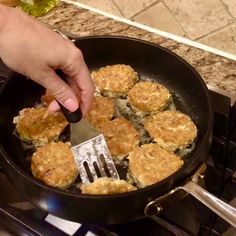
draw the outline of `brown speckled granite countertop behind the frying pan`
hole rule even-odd
[[[147,40],[165,47],[188,61],[211,86],[236,95],[236,61],[176,42],[155,33],[115,21],[103,15],[61,2],[38,20],[74,37],[119,35]]]

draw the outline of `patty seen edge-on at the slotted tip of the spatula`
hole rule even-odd
[[[108,177],[98,178],[91,184],[82,184],[80,188],[82,193],[86,194],[114,194],[137,189],[125,180],[114,180]]]

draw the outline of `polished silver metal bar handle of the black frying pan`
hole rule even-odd
[[[191,194],[228,223],[236,227],[236,209],[234,207],[215,197],[193,181],[187,182],[180,188]]]

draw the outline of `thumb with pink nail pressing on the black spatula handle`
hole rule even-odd
[[[48,71],[46,78],[44,77],[40,83],[50,91],[57,102],[62,104],[69,111],[73,112],[78,109],[79,102],[71,87],[64,82],[54,70]],[[49,110],[58,110],[57,104],[53,103],[52,106],[49,106]]]

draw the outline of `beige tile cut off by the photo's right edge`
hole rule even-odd
[[[236,55],[236,23],[200,39],[199,42]]]

